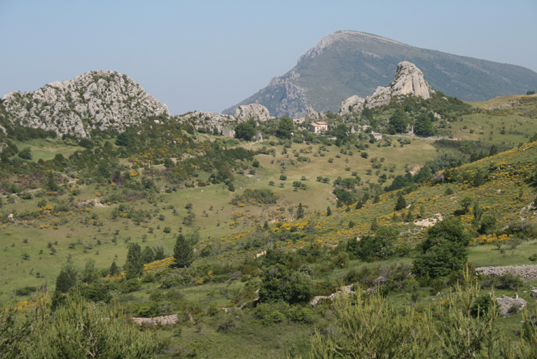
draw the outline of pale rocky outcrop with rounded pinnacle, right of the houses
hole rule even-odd
[[[370,109],[384,106],[396,96],[411,95],[427,100],[432,93],[435,90],[425,80],[423,72],[411,62],[403,61],[397,65],[396,77],[388,87],[377,87],[375,93],[365,99],[354,95],[343,100],[339,114],[360,113],[364,106]]]

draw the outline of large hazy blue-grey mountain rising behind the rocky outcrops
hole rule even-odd
[[[387,86],[402,61],[419,67],[435,90],[461,100],[537,89],[537,73],[524,67],[417,48],[365,32],[338,31],[300,56],[289,72],[223,113],[235,114],[239,105],[251,103],[263,104],[274,116],[303,117],[307,107],[335,112],[342,100],[366,97],[377,86]]]

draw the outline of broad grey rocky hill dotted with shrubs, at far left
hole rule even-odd
[[[95,128],[123,130],[148,116],[169,116],[167,106],[129,76],[103,70],[48,83],[33,93],[8,93],[1,102],[13,124],[76,137],[88,137]]]

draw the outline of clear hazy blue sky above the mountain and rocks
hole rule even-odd
[[[0,96],[106,69],[172,114],[218,112],[337,30],[537,72],[536,19],[536,0],[0,0]]]

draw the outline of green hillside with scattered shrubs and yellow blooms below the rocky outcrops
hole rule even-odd
[[[127,316],[172,316],[174,325],[141,328],[159,358],[307,358],[314,328],[323,339],[342,333],[337,307],[309,299],[342,285],[382,285],[398,312],[409,305],[416,318],[438,319],[463,277],[459,267],[440,278],[413,272],[435,222],[466,233],[475,266],[537,258],[536,105],[536,95],[398,96],[365,113],[328,114],[327,135],[301,123],[287,138],[288,118],[247,121],[260,142],[214,134],[202,113],[142,118],[119,135],[80,141],[10,138],[0,161],[0,299],[38,312],[44,287],[44,302],[64,309],[106,309],[117,299]],[[414,130],[425,121],[433,135],[398,132],[400,116]],[[362,126],[382,139],[350,130]],[[356,238],[382,235],[393,243],[368,257],[355,251]],[[181,237],[193,262],[169,268]],[[137,246],[145,265],[130,278]],[[70,284],[60,280],[71,275]],[[287,297],[267,285],[291,279],[302,287]],[[529,285],[537,280],[480,280],[480,296],[494,285],[497,297],[516,291],[535,308]],[[81,303],[78,292],[97,304],[67,302]],[[495,328],[518,344],[521,320],[515,308]],[[51,337],[62,330],[33,328]]]

